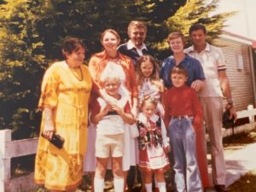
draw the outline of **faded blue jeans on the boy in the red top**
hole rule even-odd
[[[176,192],[202,192],[195,151],[193,118],[171,119],[168,134],[172,147]]]

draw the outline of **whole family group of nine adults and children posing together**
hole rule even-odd
[[[103,192],[109,168],[114,191],[122,192],[137,166],[142,190],[151,192],[154,183],[166,192],[164,173],[171,168],[175,191],[203,192],[210,186],[206,127],[212,181],[224,192],[223,94],[230,118],[236,111],[221,49],[206,42],[205,26],[194,24],[188,49],[181,32],[168,35],[172,55],[159,67],[144,44],[147,26],[132,20],[127,32],[130,40],[121,45],[118,32],[102,32],[103,50],[91,56],[88,67],[84,44],[68,38],[65,60],[47,69],[38,104],[44,137],[38,141],[35,182],[73,192],[84,172],[92,172],[92,190]],[[55,134],[63,137],[62,148],[52,144]]]

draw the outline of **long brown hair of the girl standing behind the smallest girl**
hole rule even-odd
[[[152,63],[153,65],[153,71],[152,74],[150,75],[149,79],[150,80],[159,80],[159,66],[157,61],[154,59],[153,56],[151,55],[142,55],[138,60],[137,60],[137,84],[141,85],[143,84],[143,73],[142,73],[142,69],[141,66],[143,64],[143,62],[149,61]]]

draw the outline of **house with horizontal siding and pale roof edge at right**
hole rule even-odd
[[[218,43],[224,51],[226,73],[230,79],[236,110],[246,109],[249,104],[255,107],[256,48],[253,46],[255,41],[232,32],[224,32]]]

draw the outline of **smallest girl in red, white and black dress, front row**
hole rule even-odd
[[[138,114],[138,166],[143,173],[143,182],[147,192],[152,192],[152,175],[160,192],[166,192],[164,172],[170,168],[167,154],[169,139],[162,118],[155,113],[157,102],[153,96],[141,102],[142,113]]]

